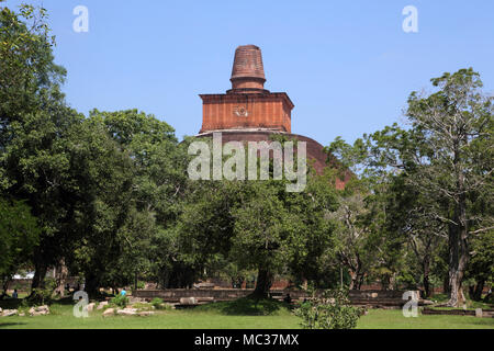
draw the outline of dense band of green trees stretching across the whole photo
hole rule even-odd
[[[91,295],[138,281],[190,287],[222,278],[256,281],[258,298],[282,276],[323,288],[379,281],[426,296],[442,285],[458,306],[465,286],[474,299],[492,286],[493,99],[472,69],[413,92],[407,125],[352,145],[337,138],[326,150],[338,169],[310,169],[306,189],[289,193],[287,180],[190,180],[192,138],[179,141],[154,115],[78,113],[61,93],[54,45],[44,9],[1,7],[4,290],[13,274],[34,270],[33,295],[45,292],[53,268],[79,276]],[[348,174],[337,190],[336,178]],[[64,274],[54,286],[64,293]],[[301,313],[325,315],[325,328],[351,327],[335,298]]]

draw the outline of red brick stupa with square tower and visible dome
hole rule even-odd
[[[307,159],[313,159],[315,170],[322,173],[327,167],[323,146],[308,137],[291,134],[294,104],[289,95],[265,89],[266,76],[259,47],[237,47],[231,81],[232,89],[226,93],[200,94],[203,120],[198,136],[210,137],[221,132],[223,143],[228,143],[270,141],[272,134],[287,135],[306,143]],[[336,186],[341,189],[347,180],[348,177],[337,179]]]

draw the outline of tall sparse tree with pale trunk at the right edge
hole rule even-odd
[[[450,306],[462,303],[462,281],[473,236],[492,230],[492,213],[471,211],[476,193],[493,197],[493,98],[485,97],[479,73],[461,69],[431,80],[438,91],[412,93],[407,116],[419,132],[426,154],[415,162],[414,184],[425,196],[448,201],[436,213],[448,226]]]

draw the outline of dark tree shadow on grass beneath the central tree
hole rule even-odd
[[[288,307],[284,303],[272,298],[255,299],[244,297],[235,301],[198,306],[194,310],[217,312],[227,316],[269,316],[276,315],[281,310],[288,310]]]

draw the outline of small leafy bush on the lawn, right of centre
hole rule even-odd
[[[295,309],[295,315],[302,318],[305,329],[353,329],[361,309],[350,306],[348,292],[327,290],[321,297],[313,293],[311,301]]]

